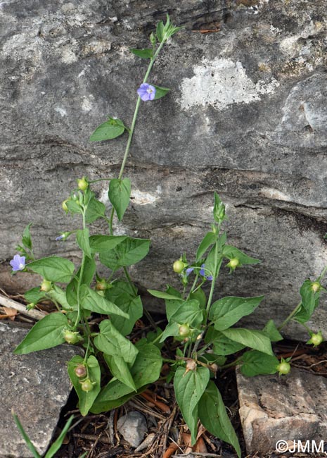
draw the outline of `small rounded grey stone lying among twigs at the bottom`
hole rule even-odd
[[[136,410],[121,416],[117,421],[117,429],[132,447],[139,447],[148,431],[145,416]]]

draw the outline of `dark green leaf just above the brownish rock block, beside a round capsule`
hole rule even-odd
[[[278,372],[276,369],[278,364],[279,361],[275,356],[250,350],[242,354],[241,373],[247,377],[264,376]]]

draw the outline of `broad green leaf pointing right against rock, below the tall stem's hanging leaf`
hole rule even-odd
[[[132,266],[143,259],[150,248],[150,240],[127,237],[115,250],[100,253],[100,261],[112,271],[123,266]]]

